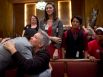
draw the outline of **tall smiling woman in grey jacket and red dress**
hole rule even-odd
[[[40,28],[48,33],[52,40],[48,51],[51,58],[62,58],[61,39],[63,35],[63,23],[56,17],[56,9],[53,3],[47,3],[44,19],[40,21]]]

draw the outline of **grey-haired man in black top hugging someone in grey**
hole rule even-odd
[[[50,56],[46,51],[49,41],[49,37],[44,31],[39,31],[31,37],[29,42],[35,52],[35,55],[31,59],[23,57],[12,41],[7,41],[3,45],[10,52],[13,61],[20,67],[21,74],[35,75],[31,77],[50,77],[50,70],[48,70]],[[17,77],[23,76],[19,75]]]

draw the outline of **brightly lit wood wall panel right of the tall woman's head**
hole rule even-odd
[[[70,7],[70,1],[63,1],[63,2],[59,2],[59,5],[58,5],[58,17],[62,20],[63,24],[64,25],[70,25],[70,12],[71,10],[69,9]]]

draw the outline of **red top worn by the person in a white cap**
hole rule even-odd
[[[97,40],[93,40],[88,43],[88,53],[96,59],[100,59],[100,51],[102,50],[103,48],[100,47]]]

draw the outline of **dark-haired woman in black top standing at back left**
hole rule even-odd
[[[26,27],[24,27],[22,36],[26,37],[27,39],[30,39],[30,37],[32,37],[39,28],[39,21],[38,18],[34,15],[31,16],[31,23],[29,25],[26,25]]]

